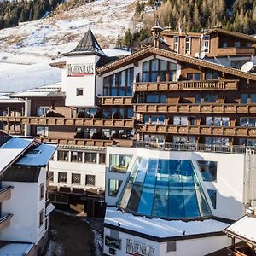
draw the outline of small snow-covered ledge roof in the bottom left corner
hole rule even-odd
[[[9,243],[0,248],[0,256],[23,256],[29,253],[34,247],[32,243]]]

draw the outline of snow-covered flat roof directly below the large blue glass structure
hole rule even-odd
[[[215,219],[194,221],[165,220],[146,218],[122,213],[116,207],[107,207],[104,224],[110,224],[124,230],[141,233],[158,238],[191,236],[223,231],[229,224]]]

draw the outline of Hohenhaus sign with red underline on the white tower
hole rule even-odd
[[[94,74],[94,63],[85,64],[67,64],[68,77],[84,77],[85,75]]]

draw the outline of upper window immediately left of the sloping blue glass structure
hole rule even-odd
[[[110,172],[126,172],[131,158],[131,155],[110,154]]]

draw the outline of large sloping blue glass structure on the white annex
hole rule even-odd
[[[150,218],[212,216],[191,160],[137,157],[118,207]]]

